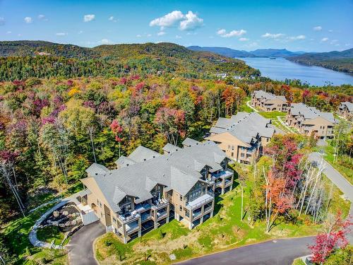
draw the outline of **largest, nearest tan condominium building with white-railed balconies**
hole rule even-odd
[[[90,165],[78,197],[87,208],[83,220],[100,220],[126,243],[173,218],[190,229],[212,218],[215,194],[232,189],[230,159],[212,141],[183,145],[168,143],[163,155],[139,146],[115,170]]]

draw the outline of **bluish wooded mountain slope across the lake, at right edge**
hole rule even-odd
[[[342,52],[310,52],[287,57],[287,59],[299,64],[316,65],[335,71],[353,73],[353,49],[346,49]]]

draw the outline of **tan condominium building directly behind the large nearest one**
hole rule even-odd
[[[229,119],[219,118],[206,139],[217,143],[229,158],[251,164],[261,155],[273,134],[283,134],[256,112],[238,112]]]

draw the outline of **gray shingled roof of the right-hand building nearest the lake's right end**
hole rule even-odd
[[[316,107],[309,107],[304,103],[292,103],[290,105],[290,113],[293,116],[304,117],[304,120],[307,119],[315,119],[317,117],[323,117],[327,119],[329,122],[335,123],[335,117],[330,112],[321,112],[320,110],[316,109]]]

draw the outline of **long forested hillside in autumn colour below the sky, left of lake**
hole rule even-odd
[[[51,42],[0,42],[0,80],[29,77],[73,78],[123,76],[125,73],[175,73],[187,78],[210,78],[216,73],[259,76],[244,61],[210,52],[193,52],[172,43],[101,45],[83,48]]]

